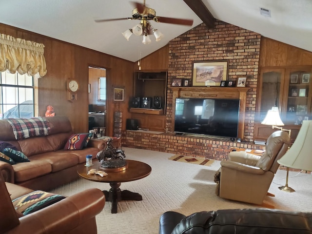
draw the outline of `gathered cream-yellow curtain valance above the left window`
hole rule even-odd
[[[34,41],[0,34],[0,72],[29,76],[39,73],[43,77],[47,73],[43,48],[43,44]]]

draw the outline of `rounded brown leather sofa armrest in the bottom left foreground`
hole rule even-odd
[[[37,212],[20,217],[20,225],[8,234],[68,233],[104,208],[105,196],[99,189],[88,189],[69,196]]]

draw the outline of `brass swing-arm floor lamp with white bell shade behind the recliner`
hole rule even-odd
[[[272,109],[268,111],[266,117],[261,122],[261,124],[271,125],[273,129],[277,128],[277,129],[280,129],[281,131],[288,131],[289,136],[291,136],[291,132],[292,132],[291,129],[283,129],[283,127],[279,127],[279,126],[284,126],[284,123],[281,120],[281,117],[279,116],[278,107],[276,107],[276,106],[273,106]],[[292,193],[295,191],[291,187],[288,186],[288,174],[289,174],[289,168],[287,167],[286,184],[285,184],[285,186],[281,186],[278,188],[282,191]]]

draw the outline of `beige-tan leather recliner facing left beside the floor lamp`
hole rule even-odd
[[[287,132],[276,131],[267,140],[266,151],[256,156],[244,151],[230,152],[229,160],[221,161],[219,196],[226,199],[262,204],[281,158],[291,139]]]

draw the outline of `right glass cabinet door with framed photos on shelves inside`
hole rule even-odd
[[[302,120],[311,119],[311,68],[289,69],[287,71],[288,90],[285,121],[289,124],[302,124]]]

